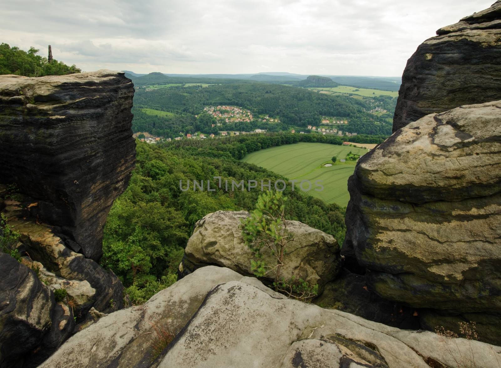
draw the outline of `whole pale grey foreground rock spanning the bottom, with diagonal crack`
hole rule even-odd
[[[153,326],[175,335],[158,356]],[[166,328],[166,327],[164,327]],[[227,268],[197,269],[140,307],[101,318],[41,367],[498,367],[499,348],[406,331],[285,298]]]

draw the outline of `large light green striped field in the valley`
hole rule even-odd
[[[340,160],[345,159],[350,151],[359,155],[368,152],[364,148],[301,142],[252,152],[243,157],[242,161],[275,171],[291,180],[310,180],[312,189],[306,193],[326,203],[337,203],[345,207],[350,200],[348,177],[353,173],[356,161]],[[337,157],[336,163],[324,166],[332,163],[332,156]],[[315,186],[316,180],[322,180],[320,184],[324,186],[323,191],[315,190],[319,189]],[[305,183],[304,187],[308,185]],[[300,190],[299,182],[296,183],[296,188]]]

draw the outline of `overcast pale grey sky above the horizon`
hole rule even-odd
[[[494,0],[12,0],[0,42],[84,71],[401,76],[417,46]]]

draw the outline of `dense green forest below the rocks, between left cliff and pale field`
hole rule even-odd
[[[302,135],[313,139],[316,135]],[[308,137],[308,138],[307,138]],[[319,139],[325,136],[318,135]],[[325,142],[341,144],[339,138]],[[260,190],[181,191],[187,180],[213,176],[240,181],[284,179],[256,165],[238,161],[246,152],[295,143],[296,134],[266,134],[207,141],[181,140],[148,145],[138,142],[136,169],[129,187],[110,211],[101,263],[123,281],[131,301],[142,303],[176,280],[176,272],[193,225],[218,210],[253,210]],[[217,180],[212,181],[212,183]],[[284,195],[287,218],[344,239],[344,208],[292,191]]]

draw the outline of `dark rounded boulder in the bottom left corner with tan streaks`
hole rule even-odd
[[[36,366],[74,326],[36,273],[0,252],[0,366]]]

